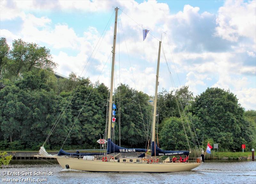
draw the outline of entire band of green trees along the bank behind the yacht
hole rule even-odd
[[[0,90],[0,149],[38,150],[55,122],[58,125],[46,148],[59,149],[73,125],[64,149],[99,146],[96,141],[105,132],[108,88],[75,73],[57,79],[52,73],[55,67],[49,49],[21,39],[14,40],[10,49],[6,39],[0,39],[0,84],[5,85]],[[119,142],[120,128],[122,146],[147,147],[152,123],[149,96],[121,84],[113,97],[117,106],[113,141]],[[256,147],[256,111],[244,112],[230,91],[208,88],[194,98],[188,86],[175,92],[163,89],[157,102],[156,132],[163,149],[189,149],[182,122],[192,147],[194,128],[200,143],[204,135],[204,146],[219,143],[222,151],[240,151],[241,144],[246,144],[247,151]],[[65,113],[59,117],[62,110]]]

